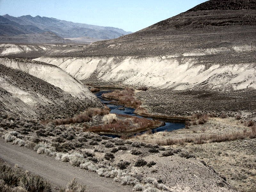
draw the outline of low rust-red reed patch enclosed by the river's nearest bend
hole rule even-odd
[[[107,132],[107,133],[133,133],[145,131],[160,126],[162,123],[157,120],[149,120],[146,118],[130,117],[125,120],[117,120],[109,124],[101,124],[92,126],[86,131],[90,132]]]

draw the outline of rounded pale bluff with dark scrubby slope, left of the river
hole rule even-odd
[[[86,86],[54,65],[0,58],[0,69],[0,112],[52,118],[103,107]]]

